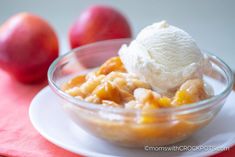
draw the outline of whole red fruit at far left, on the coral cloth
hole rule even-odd
[[[20,82],[44,80],[58,52],[54,30],[37,15],[19,13],[0,27],[0,67]]]

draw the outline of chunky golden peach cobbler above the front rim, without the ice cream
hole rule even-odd
[[[97,70],[71,79],[62,89],[91,103],[143,110],[187,105],[209,97],[201,79],[186,81],[173,97],[160,95],[147,82],[127,73],[119,57],[110,58]]]

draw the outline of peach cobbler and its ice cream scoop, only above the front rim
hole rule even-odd
[[[143,29],[119,56],[63,85],[71,96],[128,109],[192,104],[210,96],[202,79],[206,59],[183,30],[165,21]]]

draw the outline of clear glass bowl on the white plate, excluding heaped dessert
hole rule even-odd
[[[86,132],[126,147],[163,146],[186,139],[205,127],[220,111],[232,90],[233,75],[218,57],[205,53],[212,64],[203,79],[214,90],[214,96],[181,107],[142,112],[101,106],[76,99],[61,90],[61,85],[81,73],[100,66],[117,55],[130,39],[107,40],[82,46],[56,59],[49,68],[48,80],[66,114]],[[140,122],[141,116],[149,119]]]

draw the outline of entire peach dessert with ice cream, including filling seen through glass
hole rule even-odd
[[[206,109],[184,110],[213,95],[203,80],[211,65],[188,33],[166,21],[154,23],[118,54],[61,86],[76,103],[90,105],[85,110],[63,103],[86,131],[122,146],[162,146],[213,118]]]

